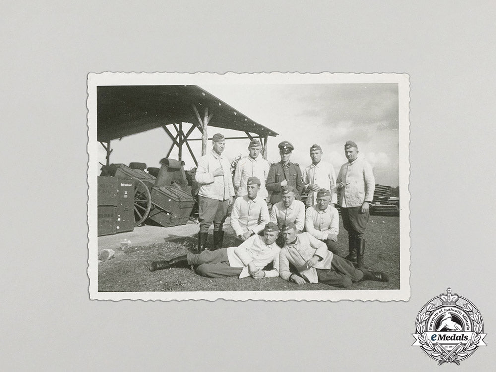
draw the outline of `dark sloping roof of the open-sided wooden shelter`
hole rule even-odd
[[[210,127],[278,134],[197,85],[133,85],[97,87],[97,139],[108,142],[182,122],[198,125],[193,105],[213,114]]]

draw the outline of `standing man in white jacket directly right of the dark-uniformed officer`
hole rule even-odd
[[[337,204],[336,173],[332,164],[322,159],[322,148],[314,144],[310,147],[310,158],[312,164],[303,170],[304,190],[308,191],[306,206],[310,207],[317,203],[317,192],[321,189],[327,189],[331,193],[331,203]]]

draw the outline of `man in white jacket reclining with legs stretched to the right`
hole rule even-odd
[[[286,223],[281,230],[285,245],[279,255],[279,275],[288,282],[324,283],[348,288],[362,280],[389,281],[385,273],[355,268],[353,263],[327,250],[324,242],[309,233],[297,234],[292,222]],[[298,274],[291,273],[290,263]]]

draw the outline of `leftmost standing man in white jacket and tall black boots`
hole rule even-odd
[[[222,248],[227,210],[234,201],[234,187],[231,178],[231,164],[222,156],[226,146],[222,134],[214,134],[212,151],[201,157],[198,162],[195,179],[201,187],[198,193],[198,216],[200,232],[198,233],[198,250],[205,250],[208,229],[214,223],[214,246],[211,250]]]

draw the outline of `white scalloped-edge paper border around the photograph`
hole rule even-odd
[[[88,278],[92,300],[209,300],[247,301],[408,301],[410,299],[410,82],[408,74],[399,73],[234,73],[197,72],[88,74]],[[399,100],[399,187],[400,196],[400,289],[337,291],[205,291],[205,292],[98,292],[97,238],[97,94],[98,85],[202,85],[202,84],[353,84],[397,83]]]

